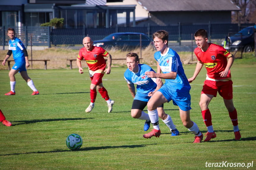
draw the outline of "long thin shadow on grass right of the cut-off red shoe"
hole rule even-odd
[[[20,120],[20,121],[12,121],[12,126],[20,125],[20,124],[38,123],[38,122],[52,122],[52,121],[66,121],[66,120],[85,120],[85,119],[94,119],[94,118],[62,118],[62,119]],[[18,123],[15,123],[15,122],[18,122]]]

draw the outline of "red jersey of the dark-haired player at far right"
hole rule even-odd
[[[228,79],[231,77],[230,70],[227,77],[220,77],[220,72],[227,66],[227,58],[232,54],[220,45],[209,43],[207,51],[203,52],[200,48],[195,48],[194,53],[198,61],[202,62],[207,70],[207,77],[215,80]]]

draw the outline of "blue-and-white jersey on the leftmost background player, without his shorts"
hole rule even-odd
[[[23,49],[25,49],[25,46],[19,38],[15,37],[14,40],[9,41],[9,50],[12,50],[15,63],[26,62]]]

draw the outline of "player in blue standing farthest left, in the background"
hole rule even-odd
[[[35,88],[31,78],[28,77],[28,73],[26,70],[26,68],[29,67],[28,52],[23,45],[23,42],[19,38],[15,37],[15,30],[13,28],[8,28],[8,36],[11,39],[9,41],[9,51],[7,52],[7,55],[5,56],[2,64],[5,66],[6,60],[9,59],[12,53],[15,64],[9,72],[11,91],[9,93],[6,93],[5,95],[15,95],[15,74],[18,72],[20,72],[21,77],[28,83],[28,86],[33,90],[32,95],[38,95],[39,92]]]

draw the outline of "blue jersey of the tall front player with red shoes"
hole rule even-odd
[[[171,48],[168,48],[166,54],[162,55],[161,52],[158,51],[155,53],[154,57],[156,61],[158,61],[161,71],[163,73],[177,73],[177,76],[174,80],[165,80],[165,85],[168,85],[168,88],[170,90],[176,92],[185,92],[190,90],[190,84],[184,73],[182,63],[176,51],[172,50]]]

